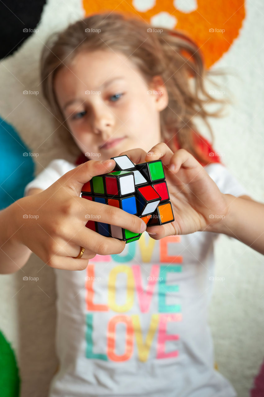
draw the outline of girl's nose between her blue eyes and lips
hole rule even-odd
[[[93,108],[92,131],[95,134],[111,133],[114,126],[114,114],[104,104]]]

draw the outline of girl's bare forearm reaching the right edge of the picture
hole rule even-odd
[[[207,230],[234,237],[264,254],[264,204],[232,195],[224,197],[227,214]]]

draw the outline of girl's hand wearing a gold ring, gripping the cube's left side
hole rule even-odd
[[[90,160],[67,172],[41,193],[20,198],[13,237],[57,269],[83,270],[96,254],[122,252],[125,241],[88,229],[87,220],[100,214],[100,222],[135,233],[145,231],[145,222],[120,208],[79,197],[84,183],[95,175],[111,172],[114,167],[114,160]],[[85,248],[83,256],[75,259],[80,247]]]

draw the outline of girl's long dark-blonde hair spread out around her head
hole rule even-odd
[[[53,33],[42,50],[42,91],[54,116],[69,131],[67,140],[63,131],[67,148],[75,142],[56,99],[54,77],[77,54],[94,50],[122,52],[137,65],[146,83],[156,75],[161,76],[169,97],[168,106],[160,112],[162,139],[173,148],[176,136],[178,147],[191,152],[200,162],[210,162],[195,144],[194,118],[200,117],[206,123],[213,139],[207,118],[221,116],[222,106],[208,112],[205,105],[222,105],[224,100],[213,98],[206,91],[204,81],[216,72],[206,71],[199,48],[185,34],[163,27],[153,29],[134,16],[114,12],[93,14],[62,32]]]

